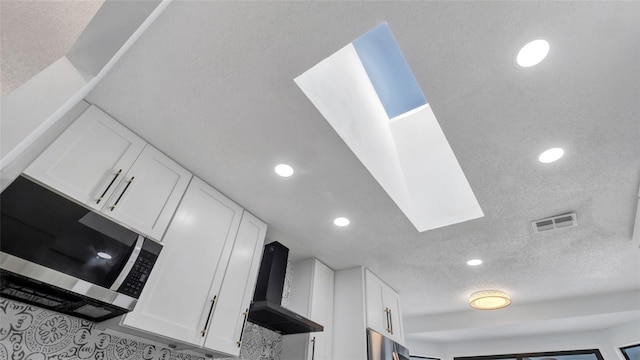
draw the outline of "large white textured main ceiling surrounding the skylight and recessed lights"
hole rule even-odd
[[[294,258],[371,268],[407,318],[471,311],[486,288],[514,304],[640,289],[638,18],[637,2],[174,2],[87,99]],[[483,218],[418,233],[293,82],[385,20]],[[540,37],[549,56],[515,66]],[[560,161],[537,161],[556,146]],[[570,211],[578,227],[533,233]]]

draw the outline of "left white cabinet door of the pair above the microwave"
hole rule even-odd
[[[92,105],[24,172],[99,210],[145,145]]]

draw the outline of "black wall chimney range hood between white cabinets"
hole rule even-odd
[[[324,327],[281,306],[289,249],[279,242],[265,245],[249,321],[283,335],[323,331]]]

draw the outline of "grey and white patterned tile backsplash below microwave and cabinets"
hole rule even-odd
[[[247,323],[240,359],[280,360],[281,352],[281,335]],[[142,338],[102,332],[87,320],[0,299],[0,360],[9,359],[206,360]]]

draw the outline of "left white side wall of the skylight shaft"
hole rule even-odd
[[[389,118],[353,46],[338,50],[295,82],[398,207],[409,207]]]

